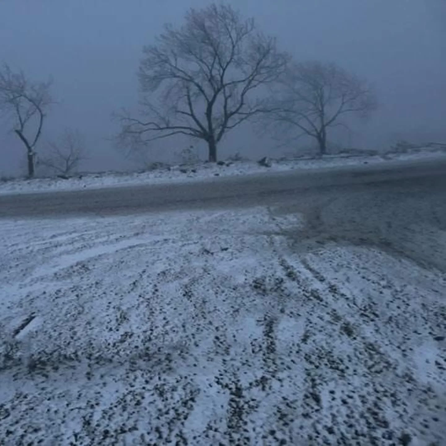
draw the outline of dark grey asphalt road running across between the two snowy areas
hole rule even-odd
[[[289,204],[318,205],[333,196],[423,192],[446,197],[446,161],[363,165],[213,178],[185,184],[0,195],[0,218],[129,215],[172,209]]]

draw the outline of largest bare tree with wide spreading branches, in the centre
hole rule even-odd
[[[231,6],[190,9],[184,26],[166,25],[156,44],[144,48],[144,118],[121,116],[121,137],[134,144],[135,136],[192,136],[206,141],[209,161],[217,161],[217,145],[228,130],[268,111],[261,87],[276,81],[287,61],[273,37]]]

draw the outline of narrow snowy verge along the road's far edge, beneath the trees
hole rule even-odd
[[[82,190],[109,186],[133,186],[143,184],[163,184],[172,182],[202,181],[216,176],[246,175],[286,171],[293,169],[324,169],[339,166],[382,164],[397,161],[429,160],[446,158],[445,150],[425,149],[417,153],[394,153],[385,156],[326,156],[323,159],[283,159],[273,161],[271,167],[264,167],[255,161],[240,161],[230,165],[199,164],[177,165],[169,169],[156,169],[143,173],[91,173],[69,179],[35,178],[0,181],[0,194],[45,192],[56,190]]]

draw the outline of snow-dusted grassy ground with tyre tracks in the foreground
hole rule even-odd
[[[444,444],[445,275],[305,223],[0,221],[0,444]]]

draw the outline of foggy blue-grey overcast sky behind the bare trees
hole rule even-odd
[[[355,146],[375,148],[396,138],[446,140],[446,0],[232,0],[297,60],[319,59],[368,78],[380,108],[355,128]],[[44,139],[66,127],[81,130],[89,167],[124,166],[107,137],[112,111],[137,102],[141,49],[165,22],[181,24],[186,8],[204,0],[0,0],[0,62],[29,78],[54,78],[59,101]],[[42,142],[43,142],[42,140]],[[186,147],[189,141],[184,141]],[[225,140],[224,154],[267,153],[246,127]],[[165,147],[162,147],[164,152]],[[168,147],[170,147],[168,145]],[[154,159],[161,154],[154,148]],[[173,151],[181,149],[172,148]],[[283,149],[285,151],[285,149]],[[3,120],[0,175],[17,173],[25,151]]]

